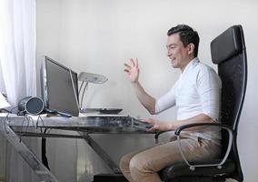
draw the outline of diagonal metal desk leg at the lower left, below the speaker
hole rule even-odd
[[[35,157],[35,154],[20,141],[14,130],[10,126],[0,124],[0,132],[8,142],[15,148],[15,151],[25,159],[25,162],[35,171],[41,182],[58,182],[55,176]]]

